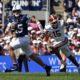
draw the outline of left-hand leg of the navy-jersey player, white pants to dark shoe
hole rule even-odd
[[[11,60],[12,60],[12,63],[13,63],[13,66],[10,68],[10,69],[6,69],[5,72],[12,72],[12,71],[16,71],[18,70],[18,64],[17,64],[17,61],[16,61],[16,56],[15,56],[15,49],[17,49],[19,46],[20,43],[19,43],[19,40],[18,38],[14,38],[9,47],[8,47],[8,52],[10,54],[10,57],[11,57]]]

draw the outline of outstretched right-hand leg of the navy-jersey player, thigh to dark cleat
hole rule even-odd
[[[47,64],[45,64],[39,57],[37,57],[31,47],[30,44],[28,42],[26,42],[27,45],[23,46],[21,49],[24,53],[26,53],[27,56],[29,56],[32,60],[34,60],[36,63],[38,63],[39,65],[41,65],[47,73],[47,76],[50,76],[50,70],[51,70],[51,66],[48,66]]]

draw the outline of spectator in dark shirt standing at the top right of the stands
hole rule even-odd
[[[64,8],[64,20],[66,20],[69,14],[72,14],[72,10],[75,7],[75,0],[64,0],[63,8]]]

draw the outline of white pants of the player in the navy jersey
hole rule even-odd
[[[33,53],[32,49],[30,48],[30,38],[28,36],[13,38],[10,42],[10,46],[14,50],[21,48],[23,53],[26,53],[27,56],[30,56]]]

